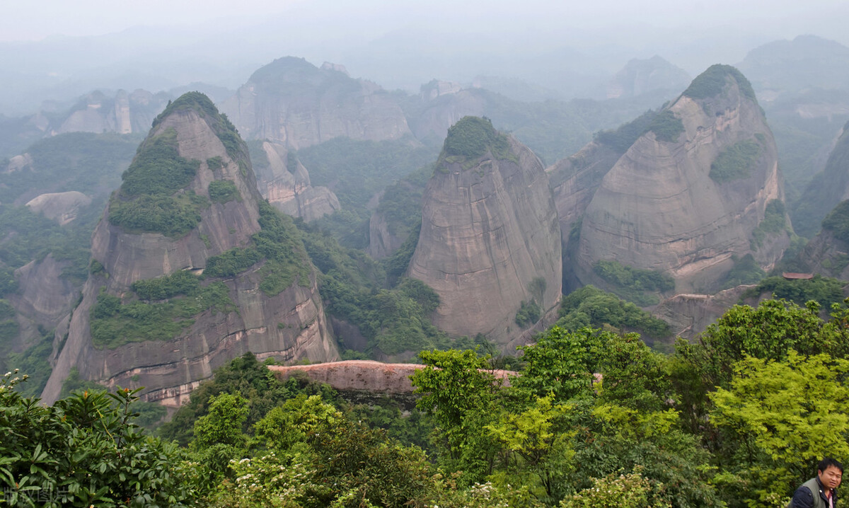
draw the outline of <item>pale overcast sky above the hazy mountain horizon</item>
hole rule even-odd
[[[767,37],[815,33],[846,43],[845,0],[4,0],[0,41],[35,41],[52,35],[91,36],[133,26],[250,25],[277,14],[346,33],[391,31],[440,23],[457,30],[488,25],[499,30],[596,30],[624,25],[749,30]],[[287,16],[287,17],[288,17]],[[319,31],[319,34],[323,34]],[[317,35],[319,35],[317,34]],[[364,34],[363,34],[364,35]]]

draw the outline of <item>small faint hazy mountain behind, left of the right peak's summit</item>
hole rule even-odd
[[[629,60],[607,83],[607,98],[636,97],[657,90],[678,93],[689,82],[686,71],[655,54],[650,59]]]

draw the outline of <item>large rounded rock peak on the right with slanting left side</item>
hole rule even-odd
[[[773,221],[762,226],[767,204]],[[582,220],[576,273],[599,260],[666,272],[676,291],[711,289],[752,253],[772,268],[789,245],[773,135],[751,85],[714,65],[655,116],[604,175]]]

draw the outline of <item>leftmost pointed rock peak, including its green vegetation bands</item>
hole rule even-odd
[[[195,171],[191,171],[193,167]],[[171,187],[163,188],[166,183]],[[154,193],[152,189],[159,190]],[[159,204],[145,208],[151,201]],[[173,206],[174,212],[164,215],[165,223],[155,222],[162,206]],[[264,232],[274,217],[270,207],[261,202],[246,146],[232,125],[200,93],[188,93],[174,101],[155,120],[125,172],[121,190],[95,229],[92,255],[102,268],[93,269],[83,288],[82,302],[73,312],[67,340],[43,398],[52,402],[58,397],[61,383],[73,367],[83,379],[109,387],[146,387],[148,400],[180,404],[212,370],[246,351],[258,358],[273,356],[286,361],[337,358],[315,272],[299,247],[300,240],[292,240],[290,251],[281,254],[294,260],[290,264],[295,264],[295,275],[289,285],[279,282],[281,277],[286,280],[280,268],[274,268],[280,262],[254,246],[254,235]],[[181,226],[180,220],[188,220],[190,225]],[[281,234],[285,235],[280,229],[269,233],[270,238]],[[133,326],[143,324],[132,325],[138,318],[128,317],[132,313],[122,313],[122,308],[137,306],[155,315],[189,296],[172,289],[166,289],[171,293],[165,296],[143,296],[138,289],[141,286],[133,283],[150,284],[150,279],[183,271],[200,274],[211,257],[222,254],[223,259],[215,258],[219,267],[222,261],[232,259],[228,255],[254,257],[237,263],[236,268],[216,268],[211,276],[194,282],[200,288],[223,288],[226,296],[219,294],[218,304],[201,306],[200,312],[198,308],[185,311],[192,315],[179,316],[188,319],[180,321],[182,330],[159,340],[134,331],[138,328]],[[269,277],[274,276],[280,286],[269,290]],[[194,280],[194,275],[188,275],[189,282]],[[101,301],[112,302],[113,308],[98,308]],[[97,319],[101,327],[116,326],[117,331],[95,341],[93,324]],[[145,326],[155,330],[173,321]]]

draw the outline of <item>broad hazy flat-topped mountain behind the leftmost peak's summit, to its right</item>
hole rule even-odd
[[[293,149],[339,136],[380,141],[410,133],[401,108],[378,85],[293,57],[256,71],[222,111],[245,138]]]

